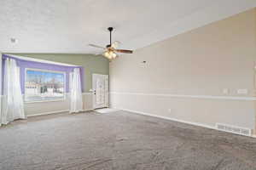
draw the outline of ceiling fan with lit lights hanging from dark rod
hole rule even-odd
[[[113,27],[108,27],[108,31],[110,33],[110,42],[109,44],[106,46],[106,48],[103,48],[101,46],[98,45],[94,45],[94,44],[89,44],[90,47],[94,47],[94,48],[102,48],[104,49],[103,52],[103,56],[108,58],[108,59],[115,59],[118,57],[119,53],[123,53],[123,54],[132,54],[133,51],[132,50],[127,50],[127,49],[117,49],[119,46],[120,42],[113,42],[112,43],[112,31],[113,31]]]

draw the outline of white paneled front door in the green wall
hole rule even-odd
[[[93,74],[93,109],[108,107],[108,75]]]

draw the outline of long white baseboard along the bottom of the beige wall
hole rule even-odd
[[[157,115],[153,115],[153,114],[146,113],[146,112],[143,112],[143,111],[134,111],[134,110],[124,109],[124,108],[113,108],[113,109],[118,109],[118,110],[121,110],[121,111],[129,111],[131,113],[137,113],[137,114],[144,115],[144,116],[154,116],[154,117],[157,117],[157,118],[160,118],[160,119],[166,119],[166,120],[173,121],[173,122],[182,122],[182,123],[186,123],[186,124],[189,124],[189,125],[194,125],[194,126],[198,126],[198,127],[206,127],[206,128],[210,128],[210,129],[213,129],[213,130],[221,131],[218,128],[216,128],[215,126],[212,127],[212,126],[205,125],[205,124],[198,123],[198,122],[188,122],[188,121],[183,121],[183,120],[179,120],[179,119],[175,119],[175,118],[171,118],[171,117],[167,117],[167,116],[157,116]],[[221,132],[224,132],[224,131],[221,131]],[[225,132],[225,133],[230,133],[230,132]],[[236,134],[236,133],[233,133],[233,134]],[[240,134],[236,134],[236,135],[240,135]],[[247,136],[247,137],[256,138],[256,135]]]

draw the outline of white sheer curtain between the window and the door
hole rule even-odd
[[[83,111],[82,88],[79,68],[70,74],[70,112]]]

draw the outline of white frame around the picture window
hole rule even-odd
[[[61,73],[64,75],[64,93],[62,99],[48,99],[48,100],[34,100],[34,101],[27,101],[26,100],[26,71],[42,71],[42,72],[51,72],[51,73]],[[31,103],[44,103],[44,102],[57,102],[57,101],[65,101],[67,99],[66,97],[66,83],[67,83],[67,73],[65,71],[50,71],[50,70],[44,70],[44,69],[36,69],[36,68],[25,68],[25,77],[24,77],[24,102],[26,104]]]

